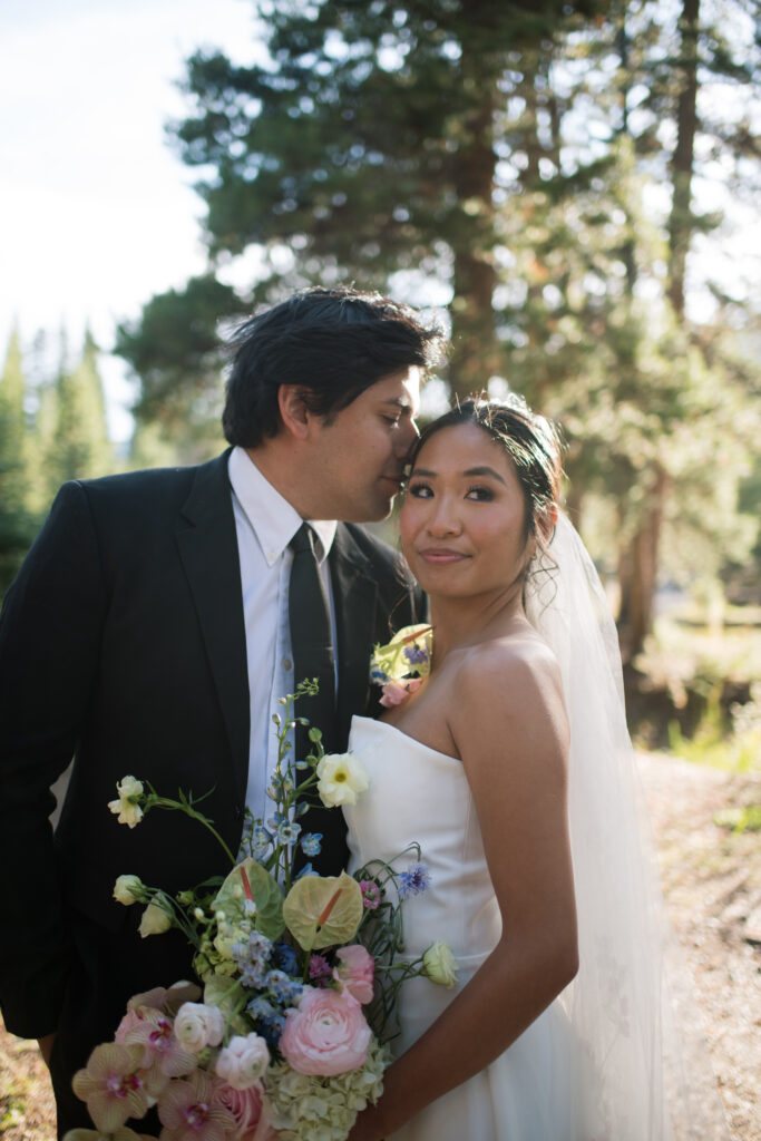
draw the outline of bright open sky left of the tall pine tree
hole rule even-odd
[[[1,0],[0,359],[89,322],[104,348],[153,293],[204,268],[194,172],[164,123],[200,46],[250,58],[250,0]],[[112,435],[131,430],[135,388],[104,355]]]

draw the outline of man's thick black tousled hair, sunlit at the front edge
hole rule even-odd
[[[383,377],[443,359],[444,333],[410,306],[350,286],[306,289],[244,322],[229,341],[222,428],[257,447],[277,435],[277,390],[297,385],[310,412],[330,416]]]

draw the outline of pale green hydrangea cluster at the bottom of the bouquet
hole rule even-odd
[[[364,1066],[335,1077],[297,1074],[286,1062],[270,1066],[265,1079],[273,1125],[283,1141],[343,1141],[370,1102],[383,1092],[387,1046],[373,1038]]]

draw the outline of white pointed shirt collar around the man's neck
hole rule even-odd
[[[227,470],[233,492],[251,524],[267,565],[272,567],[283,555],[303,519],[262,476],[244,448],[233,448]],[[307,523],[319,540],[316,553],[317,561],[322,563],[333,545],[338,525],[334,519],[308,519]]]

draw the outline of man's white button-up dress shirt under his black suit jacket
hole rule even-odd
[[[242,447],[230,452],[228,472],[241,559],[249,666],[251,737],[245,802],[254,817],[266,820],[274,807],[266,788],[277,762],[273,714],[283,713],[278,698],[292,693],[294,685],[288,604],[293,552],[289,543],[303,520],[265,479]],[[327,592],[335,647],[335,609],[327,555],[337,525],[334,521],[308,521],[319,540],[316,553]],[[298,704],[296,712],[298,714]]]

